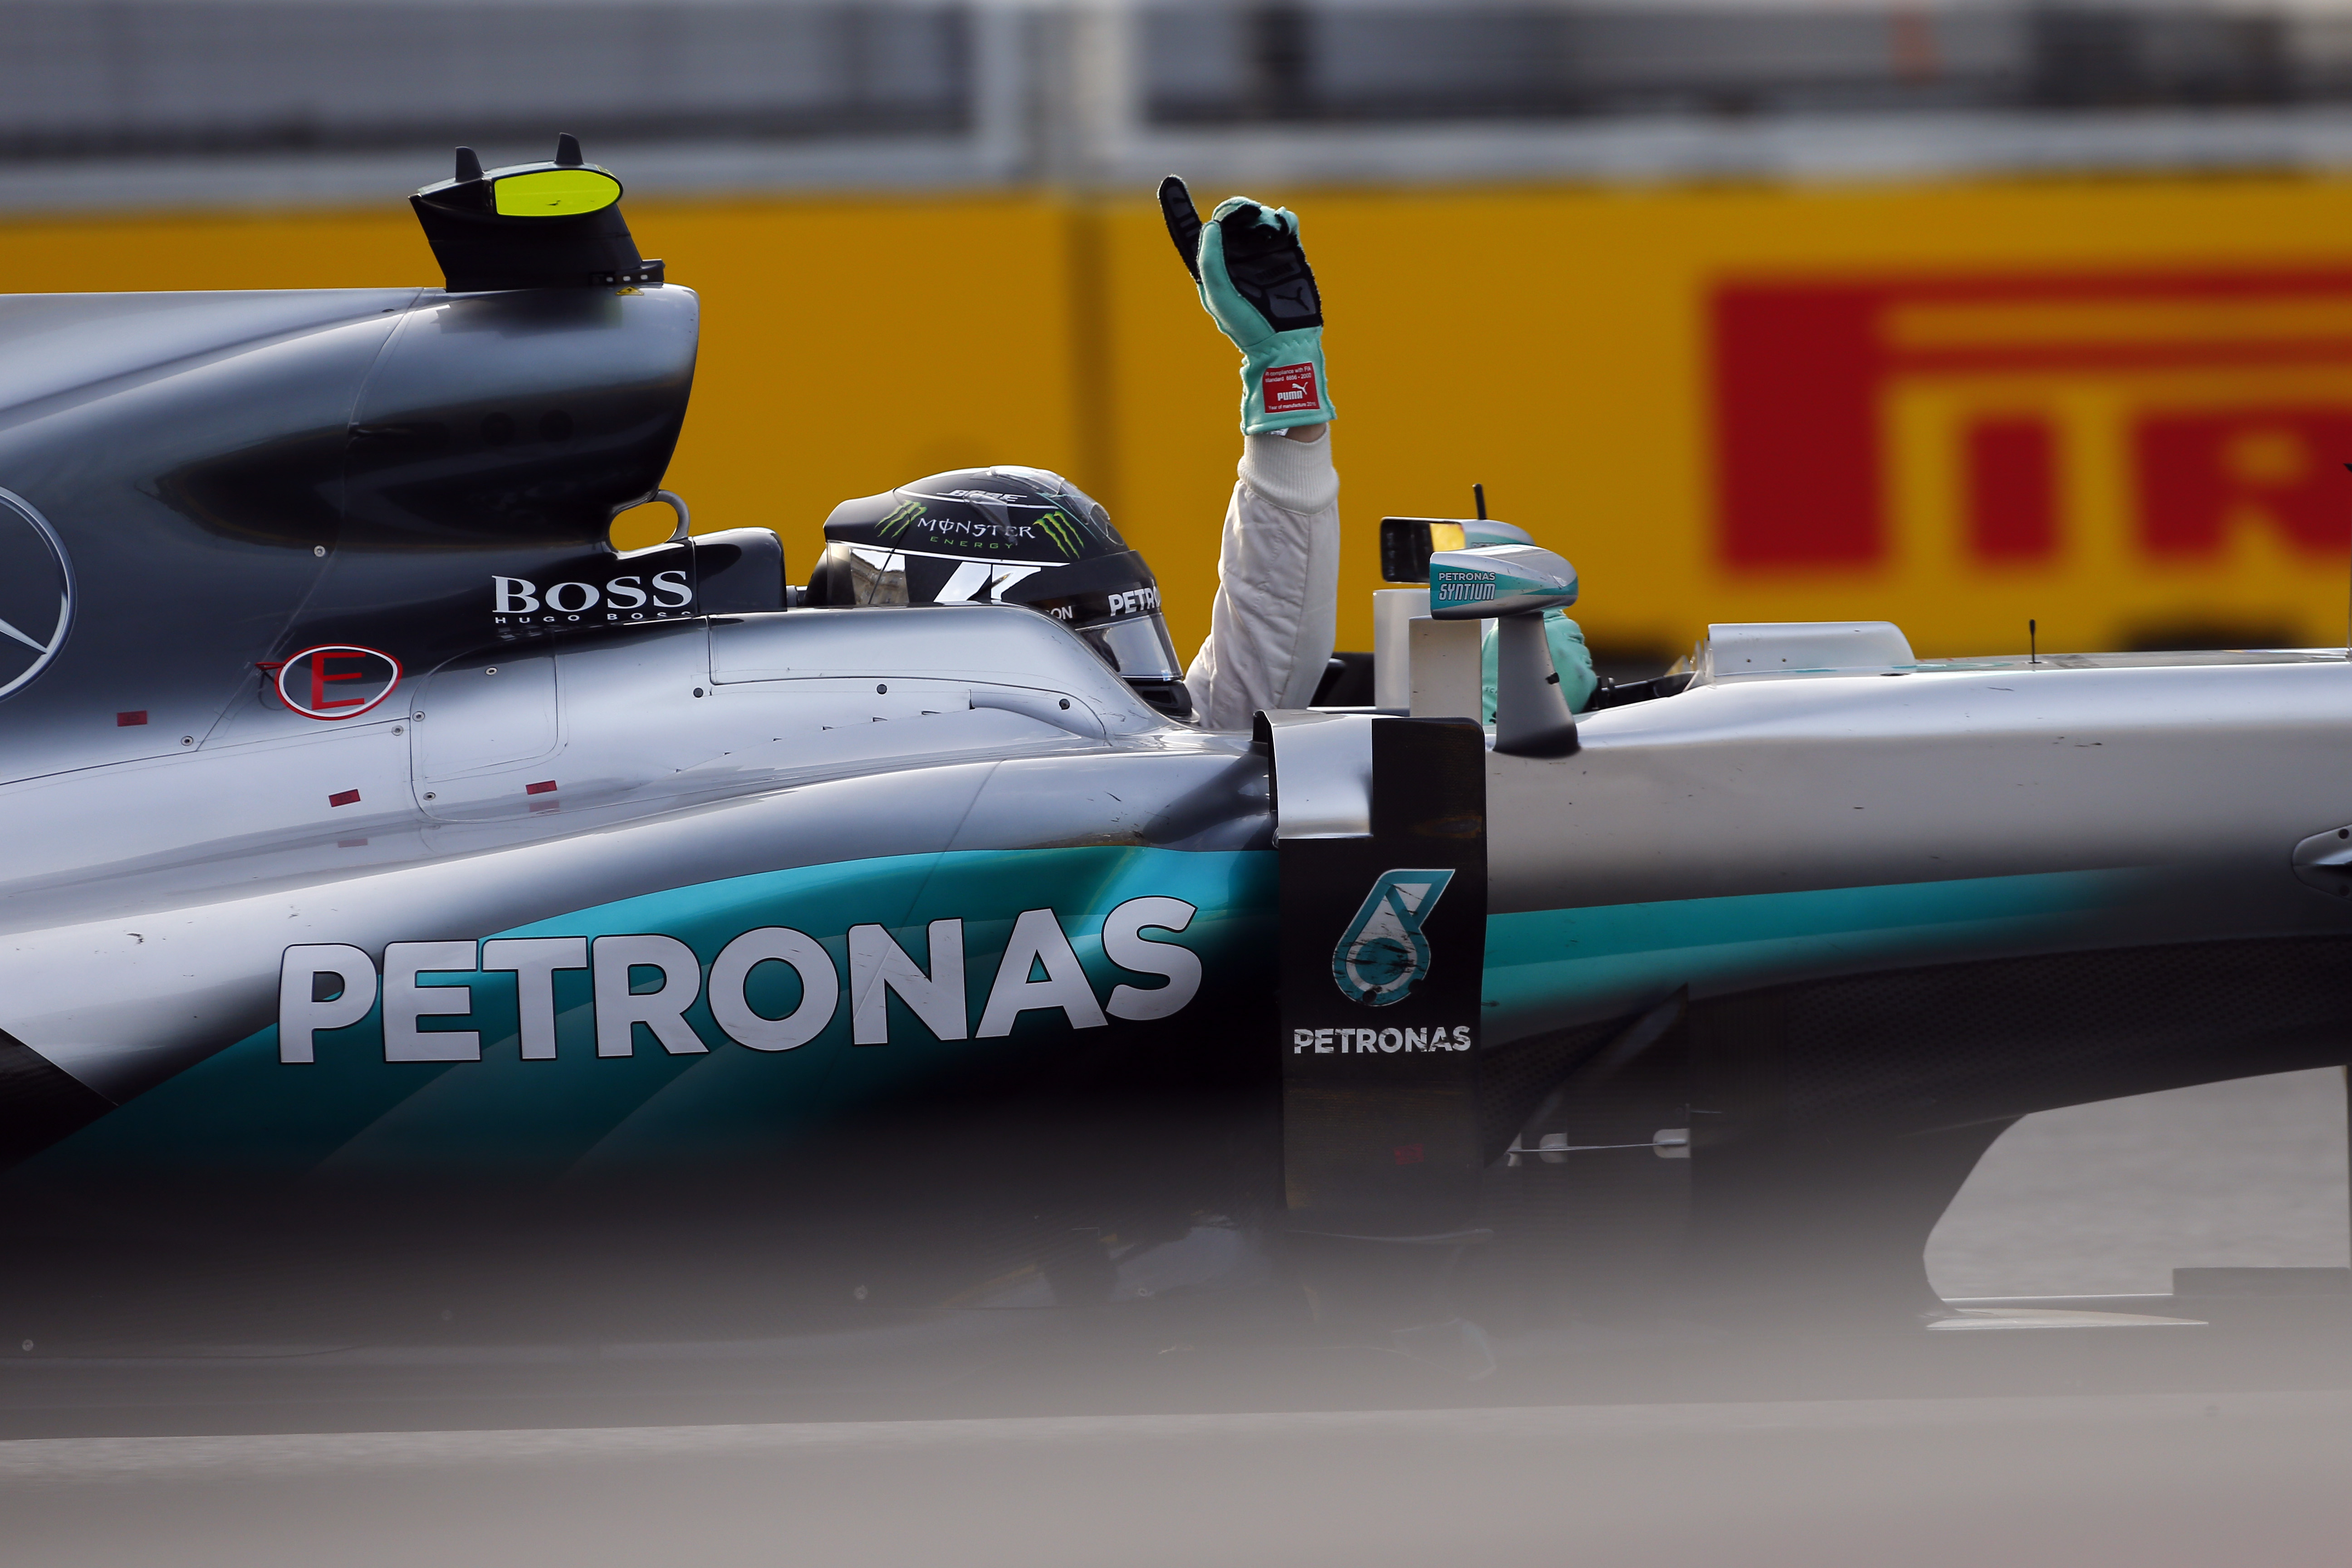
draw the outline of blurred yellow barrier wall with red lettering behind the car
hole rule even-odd
[[[1209,195],[1209,193],[1204,193]],[[1583,571],[1597,644],[1893,618],[1922,654],[2166,632],[2343,642],[2352,183],[1258,190],[1324,284],[1348,520],[1494,510]],[[795,574],[833,501],[1061,468],[1207,628],[1235,355],[1155,207],[1049,195],[630,202],[703,296],[670,484]],[[7,284],[428,282],[367,214],[0,226]]]

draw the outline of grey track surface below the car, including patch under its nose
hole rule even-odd
[[[2171,1265],[2340,1265],[2343,1126],[2336,1074],[2030,1121],[1955,1206],[1931,1267],[1947,1293],[2086,1293],[2164,1291]],[[0,1561],[2343,1561],[2352,1312],[2206,1316],[1769,1342],[1564,1333],[1505,1347],[1477,1385],[1397,1363],[1204,1363],[969,1389],[983,1413],[931,1420],[823,1420],[722,1363],[595,1382],[461,1366],[12,1375]]]

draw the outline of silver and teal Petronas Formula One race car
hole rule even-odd
[[[1411,708],[1207,733],[1018,602],[616,552],[696,353],[619,193],[0,301],[7,1345],[1891,1321],[2013,1119],[2352,1056],[2338,649],[1717,625],[1569,719],[1564,562],[1404,524]]]

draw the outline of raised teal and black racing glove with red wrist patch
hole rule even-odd
[[[1329,421],[1322,296],[1298,247],[1298,214],[1232,195],[1202,223],[1174,174],[1160,181],[1160,214],[1209,320],[1242,350],[1242,430]]]

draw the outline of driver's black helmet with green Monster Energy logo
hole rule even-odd
[[[957,468],[826,517],[809,604],[1028,604],[1160,712],[1192,717],[1160,583],[1110,512],[1044,468]]]

